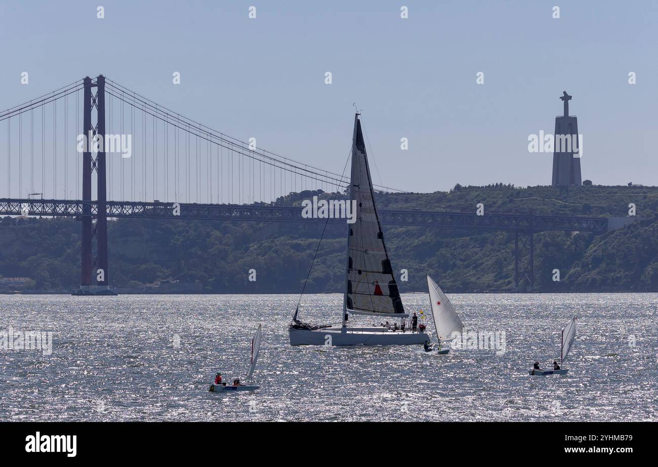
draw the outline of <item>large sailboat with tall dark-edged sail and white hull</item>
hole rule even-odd
[[[342,326],[290,323],[290,345],[417,345],[429,339],[425,332],[403,332],[379,327],[347,326],[349,315],[405,318],[393,267],[388,257],[377,214],[370,168],[359,113],[354,117],[349,200],[356,206],[354,223],[348,223],[345,292]]]

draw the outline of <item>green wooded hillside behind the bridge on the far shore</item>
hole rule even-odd
[[[277,204],[299,205],[316,192],[293,193]],[[322,194],[328,198],[330,194]],[[449,192],[379,195],[380,209],[534,212],[625,216],[628,204],[645,220],[601,236],[535,235],[538,292],[658,291],[658,187],[588,185],[570,189],[455,186]],[[16,225],[18,223],[18,225]],[[109,223],[109,278],[114,287],[173,279],[203,283],[215,293],[296,293],[322,232],[320,223],[251,223],[120,219]],[[426,289],[429,273],[446,292],[513,292],[514,234],[384,226],[396,271],[407,269],[401,292]],[[327,227],[307,292],[340,292],[345,226]],[[249,282],[249,269],[257,280]],[[554,282],[559,269],[560,282]],[[72,219],[0,221],[0,275],[30,277],[30,288],[77,288],[80,223]],[[522,290],[528,290],[524,288]]]

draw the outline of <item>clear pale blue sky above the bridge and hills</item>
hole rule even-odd
[[[655,1],[0,0],[0,108],[104,74],[341,173],[356,102],[374,181],[432,192],[549,185],[528,136],[553,132],[567,91],[582,178],[656,185],[657,18]]]

